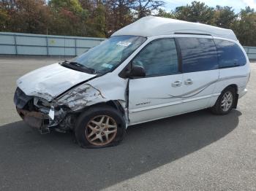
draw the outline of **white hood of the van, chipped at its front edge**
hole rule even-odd
[[[96,74],[67,69],[59,63],[36,69],[17,80],[26,95],[34,95],[51,101],[70,87],[86,81]]]

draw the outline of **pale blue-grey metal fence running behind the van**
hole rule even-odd
[[[0,32],[0,55],[80,55],[103,38]],[[244,47],[256,59],[256,47]]]

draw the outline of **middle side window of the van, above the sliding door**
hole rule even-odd
[[[207,71],[218,69],[217,50],[213,39],[177,38],[181,48],[182,71]]]

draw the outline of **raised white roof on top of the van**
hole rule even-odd
[[[157,36],[164,34],[208,34],[237,40],[236,35],[230,29],[153,16],[143,17],[135,23],[116,31],[112,36]]]

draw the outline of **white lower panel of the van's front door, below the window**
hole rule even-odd
[[[181,95],[184,92],[182,85],[172,86],[176,81],[182,82],[183,74],[130,79],[130,122],[138,123],[181,112],[182,98],[168,98],[170,95]]]

